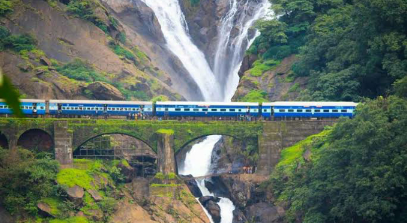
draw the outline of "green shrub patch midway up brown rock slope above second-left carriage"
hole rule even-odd
[[[68,78],[88,83],[94,81],[108,82],[103,74],[97,72],[92,65],[85,63],[79,58],[75,58],[67,64],[58,67],[57,71]]]

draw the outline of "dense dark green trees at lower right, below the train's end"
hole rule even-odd
[[[288,222],[407,222],[407,101],[395,96],[358,107],[323,140],[312,162],[280,165],[274,195],[291,204]]]

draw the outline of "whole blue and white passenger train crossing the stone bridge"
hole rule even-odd
[[[180,117],[254,117],[264,120],[296,118],[353,117],[358,103],[354,102],[137,102],[96,100],[20,100],[21,111],[28,116],[52,115],[55,117],[81,116],[134,116]],[[0,101],[0,114],[12,110]]]

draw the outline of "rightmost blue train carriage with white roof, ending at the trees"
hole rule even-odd
[[[354,102],[272,102],[264,106],[271,106],[274,117],[314,117],[329,118],[347,116],[353,117],[357,103]],[[269,114],[267,114],[269,115]]]

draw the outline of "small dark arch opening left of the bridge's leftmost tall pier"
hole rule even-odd
[[[39,152],[53,152],[54,139],[44,129],[33,128],[21,133],[17,138],[17,146]]]

